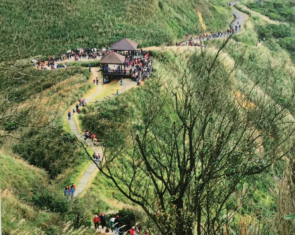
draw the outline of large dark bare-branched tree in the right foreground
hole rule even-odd
[[[248,187],[291,149],[293,110],[258,82],[240,92],[238,64],[228,70],[219,58],[226,43],[214,56],[176,53],[175,63],[163,65],[166,76],[138,93],[136,111],[122,105],[129,113],[117,112],[121,122],[108,120],[104,130],[97,166],[147,213],[153,234],[222,234],[249,199]]]

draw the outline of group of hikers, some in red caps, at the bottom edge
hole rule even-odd
[[[111,215],[110,217],[111,218],[109,219],[109,224],[108,224],[108,226],[106,226],[106,224],[107,224],[106,215],[103,212],[100,213],[100,216],[98,216],[97,213],[94,214],[94,217],[92,219],[92,221],[94,223],[94,230],[99,229],[99,226],[101,226],[101,229],[104,229],[104,227],[109,227],[109,228],[106,228],[104,235],[109,235],[110,229],[112,232],[115,231],[115,234],[124,234],[124,232],[120,231],[120,228],[122,226],[120,216],[117,215],[116,217],[114,217],[114,215]],[[128,234],[139,235],[140,230],[138,227],[132,226],[131,229],[129,230]],[[150,234],[145,231],[143,233],[143,235],[150,235]]]

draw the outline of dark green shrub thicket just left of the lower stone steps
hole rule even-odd
[[[38,139],[38,141],[15,144],[12,146],[14,152],[30,164],[45,169],[50,178],[55,178],[79,161],[76,138],[66,133],[62,126],[32,129],[24,134],[23,138]]]

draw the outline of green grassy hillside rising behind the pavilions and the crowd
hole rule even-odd
[[[102,47],[122,37],[139,47],[171,43],[201,27],[206,30],[228,26],[230,9],[221,0],[209,1],[9,1],[0,3],[1,43],[12,43],[16,34],[22,48],[34,44],[42,55],[76,47]]]

